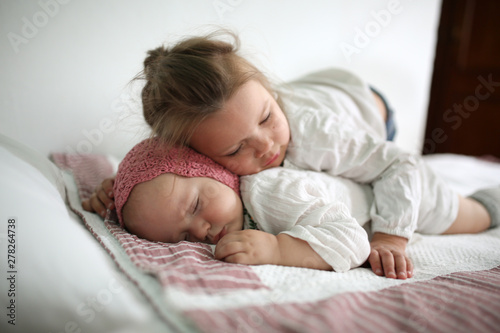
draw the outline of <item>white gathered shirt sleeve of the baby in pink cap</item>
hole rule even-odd
[[[335,271],[358,267],[368,258],[366,231],[346,205],[325,200],[328,196],[307,177],[274,168],[242,177],[241,190],[260,230],[306,241]]]

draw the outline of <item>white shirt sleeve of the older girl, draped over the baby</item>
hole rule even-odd
[[[300,151],[300,167],[371,185],[373,232],[411,237],[417,227],[422,195],[418,156],[368,133],[328,128],[328,122]]]

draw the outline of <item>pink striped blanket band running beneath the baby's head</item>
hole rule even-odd
[[[52,160],[61,169],[71,170],[82,200],[90,197],[102,180],[113,175],[113,169],[103,155],[52,154]],[[116,214],[109,212],[104,223],[130,260],[144,273],[156,276],[163,286],[203,294],[266,288],[251,267],[214,259],[210,245],[150,242],[128,233],[117,221]]]

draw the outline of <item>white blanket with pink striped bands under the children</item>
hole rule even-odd
[[[105,157],[54,154],[53,160],[72,172],[66,184],[72,209],[172,330],[498,332],[500,327],[500,228],[480,235],[415,235],[408,246],[415,277],[404,281],[375,276],[368,268],[335,273],[229,264],[215,260],[210,245],[145,241],[123,230],[112,212],[103,222],[83,211],[81,199],[113,172]],[[499,165],[467,163],[474,172],[491,169],[488,179],[500,182]],[[179,317],[192,326],[177,326]]]

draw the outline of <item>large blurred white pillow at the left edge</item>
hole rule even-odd
[[[2,135],[0,161],[4,309],[0,331],[164,331],[150,304],[68,210],[57,167]],[[11,286],[5,277],[11,270],[6,256],[8,219],[15,219],[12,297],[6,293]],[[15,326],[6,316],[11,300],[15,301]]]

